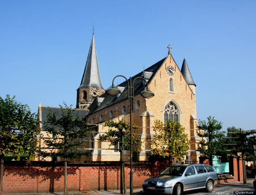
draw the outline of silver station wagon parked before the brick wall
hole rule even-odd
[[[146,179],[145,192],[181,195],[188,190],[206,188],[212,192],[218,183],[217,173],[207,164],[181,164],[167,168],[160,175]]]

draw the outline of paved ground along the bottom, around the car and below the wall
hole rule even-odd
[[[109,191],[83,191],[83,192],[68,192],[68,195],[117,195],[120,194],[120,190],[109,190]],[[129,194],[129,189],[127,189]],[[134,189],[134,195],[146,195],[142,189]],[[205,190],[194,190],[185,192],[184,195],[251,195],[255,193],[252,185],[252,181],[248,181],[248,184],[244,185],[239,182],[234,183],[218,183],[215,186],[213,192],[206,193]],[[64,195],[63,192],[57,193],[40,193],[40,194],[8,194],[8,195]]]

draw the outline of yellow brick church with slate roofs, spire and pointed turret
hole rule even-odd
[[[186,60],[184,59],[181,69],[178,68],[172,56],[170,45],[167,48],[169,53],[165,58],[130,77],[131,82],[134,81],[134,98],[132,105],[130,105],[127,83],[127,81],[130,83],[130,79],[116,86],[120,91],[117,95],[111,96],[103,88],[93,34],[76,98],[76,112],[88,123],[86,129],[88,136],[81,140],[84,142],[83,149],[92,150],[92,155],[81,158],[80,161],[120,160],[118,146],[109,146],[108,142],[101,142],[99,137],[108,131],[108,127],[104,126],[105,120],[118,121],[118,119],[123,118],[129,123],[130,107],[132,107],[132,123],[139,127],[133,131],[140,136],[142,141],[141,152],[138,153],[139,161],[148,160],[148,157],[151,156],[150,138],[154,134],[152,127],[157,119],[163,123],[172,119],[179,121],[185,127],[185,133],[191,140],[190,149],[187,151],[185,159],[197,160],[200,153],[196,151],[195,144],[197,138],[196,84]],[[138,77],[142,77],[144,80],[136,79]],[[149,99],[141,95],[147,85],[154,93],[154,97]],[[60,112],[58,107],[47,107],[39,104],[40,121],[46,120],[46,114],[49,113],[49,110]],[[41,134],[46,135],[43,127]],[[124,160],[130,160],[130,151],[124,152]]]

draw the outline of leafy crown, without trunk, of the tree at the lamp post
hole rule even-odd
[[[111,146],[116,146],[119,144],[119,151],[130,150],[131,148],[131,134],[130,134],[130,125],[127,124],[124,119],[118,122],[115,121],[106,121],[105,126],[109,127],[108,131],[105,132],[99,138],[101,141],[110,142]],[[132,129],[138,129],[134,124]],[[140,141],[139,135],[132,133],[132,150],[140,152],[142,142]]]

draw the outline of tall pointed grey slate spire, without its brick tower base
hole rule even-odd
[[[91,46],[89,50],[89,54],[87,57],[82,81],[79,88],[84,87],[94,87],[94,88],[101,88],[101,74],[99,73],[99,64],[98,64],[98,58],[97,58],[97,52],[95,47],[95,41],[94,41],[94,32],[93,32],[93,39],[91,40]]]

